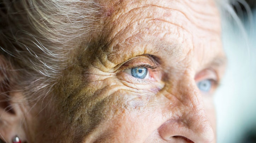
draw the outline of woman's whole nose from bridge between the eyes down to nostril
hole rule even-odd
[[[202,97],[196,84],[180,84],[178,92],[168,91],[171,106],[168,107],[167,119],[158,128],[162,139],[178,143],[212,143],[215,135],[207,117]],[[176,100],[175,100],[176,99]],[[165,109],[167,107],[165,106]]]

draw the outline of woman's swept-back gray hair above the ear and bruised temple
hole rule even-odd
[[[1,0],[0,7],[0,59],[7,61],[0,91],[16,86],[31,99],[51,91],[100,17],[94,0]]]

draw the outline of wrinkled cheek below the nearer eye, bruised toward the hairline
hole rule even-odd
[[[90,112],[78,114],[93,116],[90,117],[94,120],[90,123],[93,126],[89,136],[93,136],[95,142],[139,142],[138,139],[142,142],[160,126],[161,110],[156,104],[157,91],[150,88],[134,89],[127,86],[130,85],[128,82],[114,76],[103,79],[99,74],[94,74],[89,75],[88,79],[90,81],[86,83],[86,89],[91,90],[91,95],[84,92],[85,96],[89,96],[84,104],[90,104],[86,106]]]

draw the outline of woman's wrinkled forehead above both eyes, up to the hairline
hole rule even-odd
[[[154,54],[186,57],[198,61],[198,66],[208,63],[205,57],[211,60],[223,54],[214,0],[111,0],[101,4],[102,49],[112,63]]]

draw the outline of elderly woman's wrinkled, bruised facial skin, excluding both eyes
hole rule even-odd
[[[54,100],[33,121],[36,142],[214,143],[212,91],[196,85],[205,69],[223,74],[214,1],[99,2],[102,31],[45,99]],[[145,80],[123,72],[139,62],[158,69]]]

